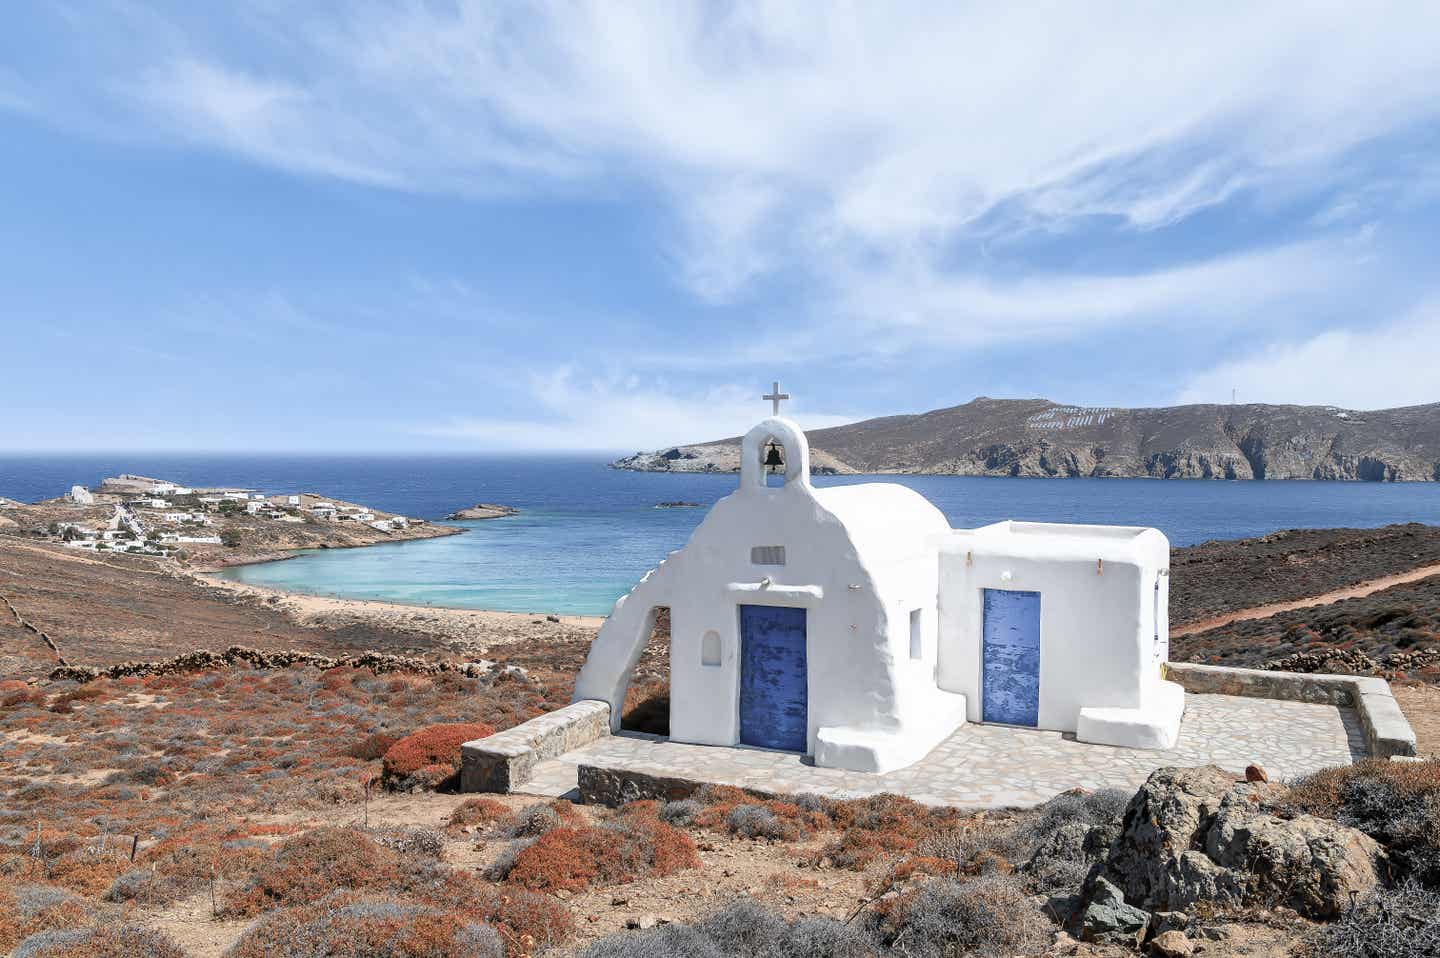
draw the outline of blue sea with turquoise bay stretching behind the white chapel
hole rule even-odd
[[[73,484],[138,473],[190,485],[314,491],[441,519],[480,501],[521,510],[456,523],[462,536],[321,550],[225,575],[317,595],[520,612],[605,614],[667,552],[684,545],[734,475],[621,473],[606,457],[0,457],[0,496],[33,501]],[[1155,526],[1172,545],[1277,529],[1440,523],[1440,483],[1218,483],[880,477],[924,494],[952,526],[999,519]],[[816,477],[818,485],[876,477]]]

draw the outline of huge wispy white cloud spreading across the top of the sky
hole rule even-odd
[[[1162,226],[1325,180],[1351,147],[1440,111],[1426,4],[284,16],[269,29],[289,58],[171,58],[137,88],[145,109],[264,163],[408,189],[639,177],[674,205],[678,274],[711,300],[835,248],[933,258],[1002,206],[1027,228]]]

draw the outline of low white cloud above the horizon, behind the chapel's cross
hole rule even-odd
[[[634,376],[582,377],[564,366],[531,377],[526,395],[533,412],[516,416],[456,416],[419,432],[508,449],[657,449],[742,435],[766,413],[760,393],[726,385],[677,392]],[[806,412],[791,403],[785,415],[806,429],[864,416]]]

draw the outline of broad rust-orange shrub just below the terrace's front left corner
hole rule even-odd
[[[503,876],[537,892],[580,892],[700,866],[690,836],[655,817],[655,802],[621,810],[600,827],[550,828],[518,850]]]

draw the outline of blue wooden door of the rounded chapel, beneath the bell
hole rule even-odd
[[[805,751],[805,609],[740,606],[740,742]]]

